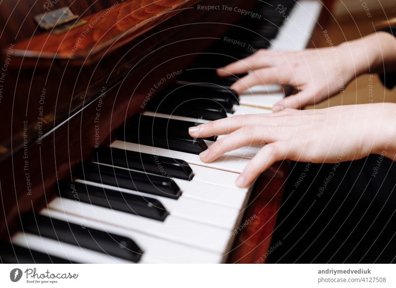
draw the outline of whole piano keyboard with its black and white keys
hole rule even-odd
[[[238,29],[227,37],[255,48],[305,48],[321,4],[293,4],[263,2],[257,12],[264,19],[241,24],[260,37],[249,38]],[[234,58],[213,57],[219,49]],[[81,163],[72,182],[59,182],[58,195],[48,207],[22,218],[12,247],[0,245],[1,262],[225,262],[251,190],[236,187],[235,180],[258,147],[203,163],[199,152],[221,137],[193,139],[188,127],[232,115],[271,113],[272,105],[285,96],[284,88],[276,85],[259,85],[238,96],[229,87],[235,77],[201,73],[252,53],[230,49],[234,46],[221,40],[215,43],[148,111],[121,127],[117,140],[99,147],[91,162]]]

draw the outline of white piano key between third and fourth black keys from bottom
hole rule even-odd
[[[121,187],[101,184],[92,181],[85,181],[81,179],[75,180],[78,183],[96,186],[108,190],[120,191],[134,195],[141,195],[159,200],[166,210],[170,212],[172,217],[178,217],[186,220],[195,221],[198,223],[212,225],[219,228],[231,230],[236,225],[240,211],[234,208],[216,205],[210,202],[204,202],[196,199],[184,197],[179,199],[171,199],[158,195],[153,195],[144,192],[138,192]],[[214,191],[212,191],[215,193]]]

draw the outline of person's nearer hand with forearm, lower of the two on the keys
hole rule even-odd
[[[242,146],[265,144],[237,180],[237,186],[247,187],[284,159],[336,163],[370,153],[393,159],[395,127],[396,104],[379,103],[234,116],[191,127],[189,133],[195,138],[227,134],[199,155],[204,162]]]

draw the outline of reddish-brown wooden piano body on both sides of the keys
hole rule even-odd
[[[70,179],[78,163],[142,111],[163,75],[185,68],[243,18],[234,11],[200,10],[197,4],[249,10],[257,1],[0,4],[2,240],[18,229],[21,215],[47,205],[57,180]],[[86,24],[61,34],[38,27],[34,16],[64,6]],[[257,180],[245,211],[247,218],[257,217],[238,233],[227,262],[253,263],[268,250],[286,172],[286,165],[274,167]]]

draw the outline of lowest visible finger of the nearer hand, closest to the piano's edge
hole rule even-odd
[[[237,186],[241,188],[250,186],[263,171],[271,167],[276,161],[286,159],[287,153],[287,145],[281,142],[264,145],[237,178]]]

